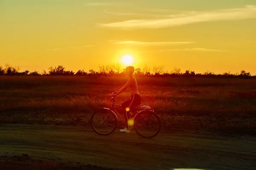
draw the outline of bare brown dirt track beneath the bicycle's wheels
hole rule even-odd
[[[6,153],[128,170],[255,170],[256,138],[160,133],[143,139],[134,131],[100,136],[88,127],[0,125],[0,155]]]

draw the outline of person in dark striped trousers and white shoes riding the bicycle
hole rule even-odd
[[[129,77],[128,82],[119,90],[112,93],[110,96],[114,97],[119,94],[121,94],[123,91],[125,91],[128,87],[130,87],[130,93],[131,93],[131,99],[126,100],[122,103],[122,108],[125,109],[125,122],[126,127],[124,129],[121,129],[121,132],[129,133],[130,127],[128,123],[128,119],[132,116],[132,109],[136,105],[140,105],[141,103],[141,97],[139,94],[139,89],[137,85],[136,78],[132,75],[134,73],[134,67],[128,66],[125,69],[125,75]]]

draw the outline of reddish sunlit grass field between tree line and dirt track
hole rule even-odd
[[[125,77],[0,77],[0,123],[84,125]],[[137,77],[163,129],[256,134],[256,79]],[[129,90],[116,103],[130,97]]]

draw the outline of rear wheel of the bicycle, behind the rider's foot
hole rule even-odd
[[[134,117],[134,130],[143,138],[157,136],[160,129],[160,119],[153,111],[142,111]]]

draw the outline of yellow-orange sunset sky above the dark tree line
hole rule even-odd
[[[0,0],[0,65],[256,74],[256,0]]]

